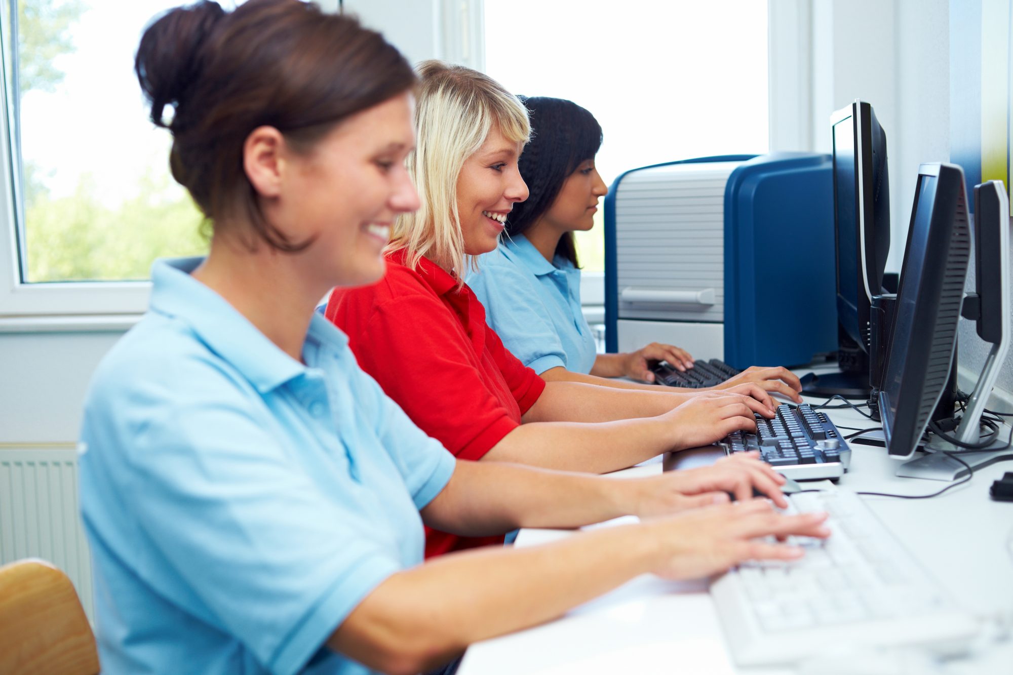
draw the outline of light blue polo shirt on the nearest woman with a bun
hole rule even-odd
[[[81,432],[103,673],[369,672],[324,647],[422,561],[418,511],[454,457],[314,312],[293,360],[159,261],[151,309],[102,360]]]

